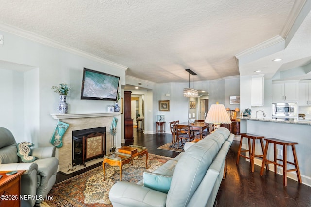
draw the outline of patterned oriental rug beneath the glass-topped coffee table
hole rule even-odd
[[[122,181],[137,183],[142,179],[143,172],[153,172],[170,159],[172,158],[149,154],[148,169],[145,168],[145,156],[135,159],[133,165],[123,165]],[[94,168],[55,184],[48,194],[52,199],[45,202],[51,207],[112,207],[108,197],[109,191],[112,185],[120,180],[120,168],[108,164],[105,167],[105,181],[103,167]]]

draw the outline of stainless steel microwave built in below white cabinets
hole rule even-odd
[[[298,116],[297,103],[273,103],[272,116]]]

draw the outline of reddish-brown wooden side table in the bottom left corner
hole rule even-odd
[[[26,171],[18,170],[16,174],[5,175],[7,172],[0,171],[0,175],[3,175],[0,179],[0,207],[20,207],[20,180]]]

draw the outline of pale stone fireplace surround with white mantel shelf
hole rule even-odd
[[[110,126],[114,116],[119,113],[98,114],[51,114],[54,119],[69,124],[63,136],[63,146],[58,149],[59,170],[68,173],[68,165],[72,165],[72,131],[87,128],[106,127],[106,149],[109,152],[111,146]],[[86,166],[87,162],[86,162]]]

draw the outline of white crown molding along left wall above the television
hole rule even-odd
[[[9,33],[12,33],[12,34],[15,34],[15,35],[18,35],[18,36],[21,36],[21,37],[24,37],[24,38],[27,38],[30,40],[33,40],[35,42],[38,42],[38,43],[41,43],[41,44],[44,44],[47,46],[51,46],[53,48],[58,48],[58,49],[67,51],[67,52],[75,54],[75,55],[79,55],[81,57],[84,57],[84,58],[87,58],[87,59],[90,59],[90,60],[93,60],[93,61],[96,61],[99,63],[103,63],[103,64],[107,64],[107,65],[110,65],[113,67],[117,67],[117,68],[124,70],[124,71],[127,70],[127,68],[128,68],[124,65],[114,63],[112,61],[106,60],[104,58],[100,58],[98,56],[84,52],[82,50],[72,48],[72,47],[69,47],[65,44],[56,42],[56,41],[49,39],[47,37],[43,37],[43,36],[40,36],[40,35],[35,34],[33,32],[28,32],[26,30],[23,30],[23,29],[20,29],[20,28],[17,28],[17,27],[8,25],[8,24],[0,23],[0,30],[5,31],[5,32],[9,32]]]

